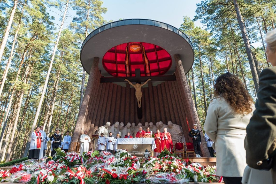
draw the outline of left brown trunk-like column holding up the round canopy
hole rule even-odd
[[[99,58],[94,57],[94,61],[92,62],[89,79],[88,79],[86,90],[85,90],[84,97],[83,97],[83,102],[81,104],[81,108],[79,110],[79,115],[78,115],[77,123],[75,126],[75,130],[73,132],[73,136],[72,136],[72,140],[71,140],[72,143],[78,142],[79,136],[82,134],[81,129],[84,125],[85,114],[86,114],[86,110],[88,107],[88,102],[89,102],[89,99],[90,99],[90,96],[91,96],[92,90],[93,90],[93,83],[99,77],[99,75],[97,75],[99,73],[98,64],[99,64]]]

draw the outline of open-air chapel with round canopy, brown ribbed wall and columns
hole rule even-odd
[[[108,23],[86,37],[80,58],[89,79],[71,142],[78,142],[84,130],[95,134],[107,121],[111,126],[172,121],[182,127],[186,142],[192,142],[193,124],[202,129],[185,75],[193,65],[193,46],[179,29],[147,19]],[[125,79],[132,84],[151,79],[141,89],[141,108]],[[210,156],[205,141],[201,152]]]

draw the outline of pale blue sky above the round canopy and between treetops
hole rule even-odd
[[[153,19],[179,28],[183,22],[183,16],[189,16],[193,19],[197,3],[200,3],[200,0],[103,0],[102,7],[107,7],[107,13],[102,16],[107,21],[116,21],[120,18]],[[54,9],[51,10],[56,11]],[[60,15],[52,11],[48,11],[48,13],[55,17],[54,23],[60,25]],[[72,22],[75,11],[69,9],[68,14],[64,27]],[[200,21],[197,21],[195,25],[202,27]]]

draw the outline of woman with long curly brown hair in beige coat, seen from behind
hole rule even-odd
[[[241,183],[246,167],[244,139],[255,107],[241,80],[225,73],[216,79],[204,130],[216,149],[217,172],[226,184]]]

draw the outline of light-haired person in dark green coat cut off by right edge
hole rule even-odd
[[[258,100],[246,128],[245,150],[248,166],[268,169],[272,164],[276,184],[276,29],[267,33],[265,41],[267,58],[273,67],[264,69],[259,76]]]

